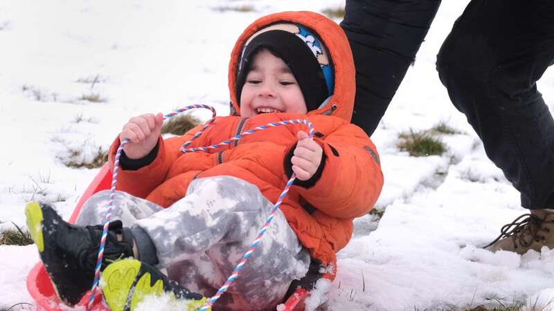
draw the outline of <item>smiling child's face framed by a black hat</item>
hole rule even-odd
[[[261,113],[307,113],[298,82],[283,59],[262,49],[252,66],[240,94],[240,115]]]

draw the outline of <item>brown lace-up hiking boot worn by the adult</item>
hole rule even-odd
[[[530,214],[503,225],[500,232],[498,238],[483,248],[517,254],[525,254],[529,249],[540,252],[543,246],[554,249],[554,209],[532,209]]]

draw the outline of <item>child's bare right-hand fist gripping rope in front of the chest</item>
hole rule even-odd
[[[304,181],[312,178],[319,168],[323,149],[306,132],[298,131],[297,137],[298,144],[291,159],[292,171],[296,173],[296,178]]]

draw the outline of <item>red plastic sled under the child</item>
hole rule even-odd
[[[84,202],[86,202],[90,196],[93,194],[96,194],[96,192],[110,189],[111,188],[111,172],[109,171],[108,164],[104,164],[102,169],[100,169],[100,172],[94,178],[94,180],[91,182],[91,185],[87,188],[87,190],[84,191],[84,194],[82,194],[82,197],[80,198],[79,202],[77,203],[77,207],[75,207],[75,210],[73,210],[73,214],[71,214],[71,218],[69,218],[69,223],[75,223],[75,219],[77,219],[77,216],[79,215],[82,205]],[[92,284],[91,284],[92,285]],[[29,294],[35,299],[35,307],[37,308],[37,311],[63,311],[67,310],[67,306],[64,305],[60,301],[60,299],[57,299],[57,296],[54,292],[54,289],[52,287],[52,283],[50,282],[50,279],[48,278],[48,274],[46,274],[46,270],[44,270],[44,265],[42,265],[42,262],[39,261],[33,269],[30,270],[28,276],[27,276],[27,290],[29,291]],[[102,294],[100,293],[99,296]],[[86,294],[81,301],[78,303],[80,306],[86,306],[89,301],[90,293]],[[302,310],[303,309],[303,301],[307,297],[307,291],[303,288],[298,288],[285,302],[285,311],[292,311],[292,310]],[[93,305],[93,310],[95,311],[109,311],[107,306],[105,306],[102,303],[102,299],[100,297],[95,299],[95,303]]]

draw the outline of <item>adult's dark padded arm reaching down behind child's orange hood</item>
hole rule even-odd
[[[414,62],[439,5],[440,0],[346,0],[341,27],[356,67],[352,123],[368,135]]]

